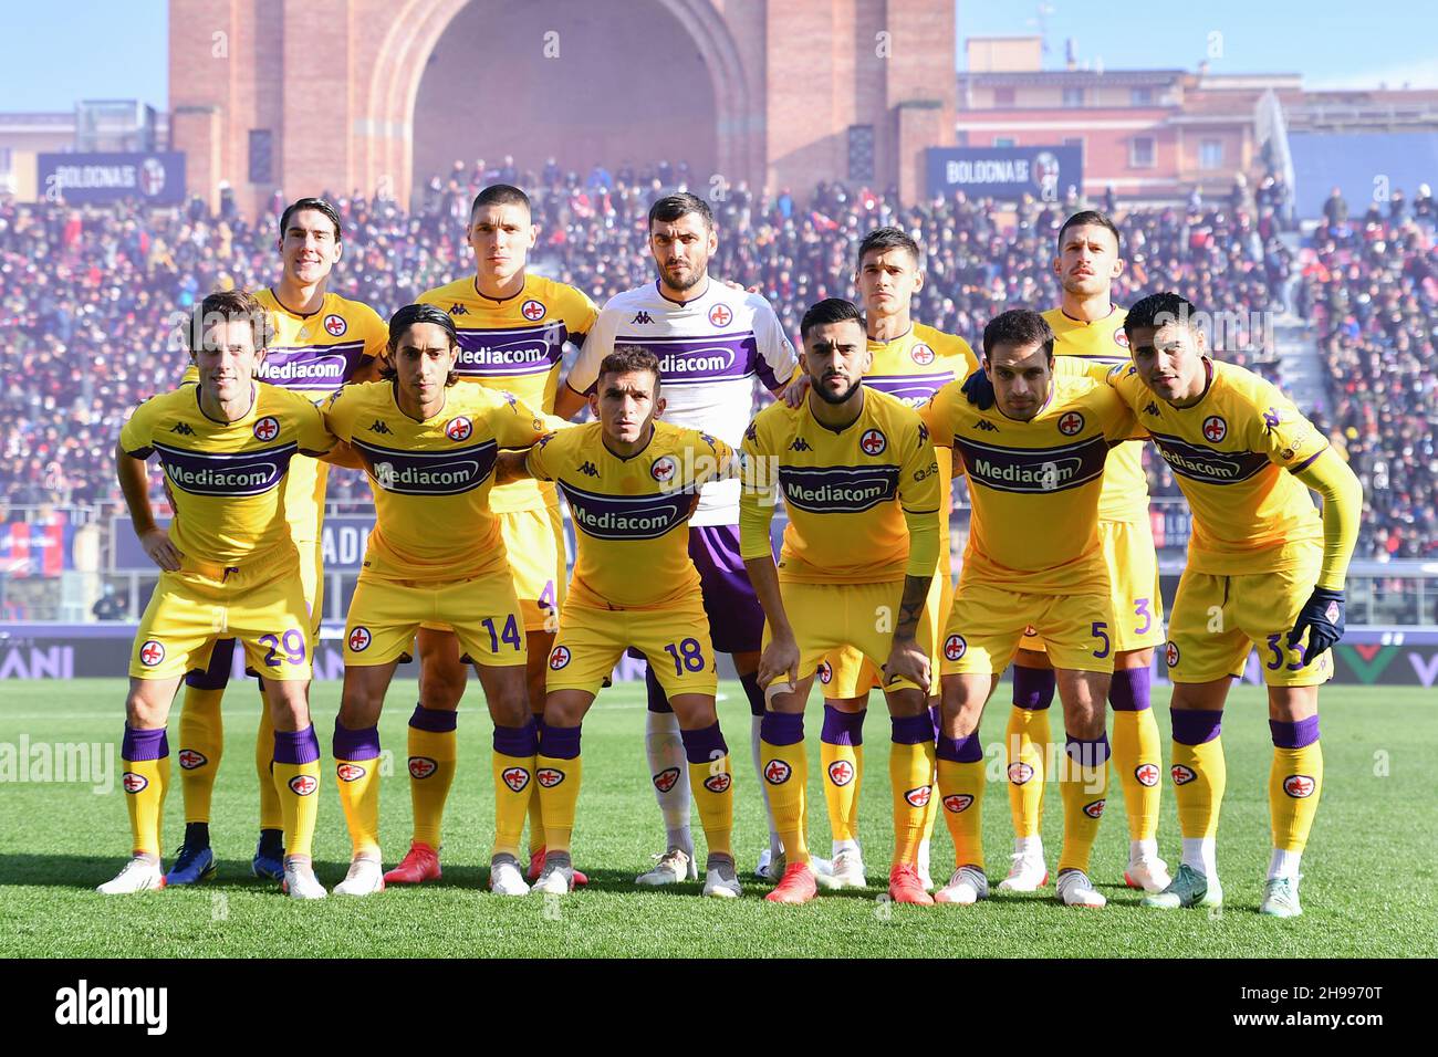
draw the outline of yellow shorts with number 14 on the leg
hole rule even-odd
[[[345,621],[345,667],[410,660],[421,624],[453,630],[464,663],[509,667],[528,660],[525,624],[508,571],[453,584],[361,572]]]

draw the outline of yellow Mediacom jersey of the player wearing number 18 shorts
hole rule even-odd
[[[707,433],[656,420],[643,452],[614,454],[597,421],[548,433],[528,467],[569,503],[578,554],[569,603],[666,608],[699,592],[689,516],[699,489],[731,475],[733,449]]]

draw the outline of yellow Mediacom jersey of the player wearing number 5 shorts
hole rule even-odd
[[[1142,436],[1103,383],[1054,375],[1028,421],[998,406],[981,411],[959,383],[920,413],[939,447],[953,447],[969,479],[969,542],[959,582],[1032,594],[1107,594],[1099,493],[1109,447]]]

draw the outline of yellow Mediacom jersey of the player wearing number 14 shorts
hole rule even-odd
[[[424,421],[400,410],[395,384],[345,385],[325,421],[364,460],[375,526],[364,569],[387,580],[452,584],[509,568],[489,506],[502,447],[529,447],[549,424],[513,395],[452,385]]]

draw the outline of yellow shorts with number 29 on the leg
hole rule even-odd
[[[217,639],[237,639],[265,679],[308,680],[315,640],[298,564],[286,549],[243,568],[161,572],[135,631],[131,677],[178,679],[209,666]]]

